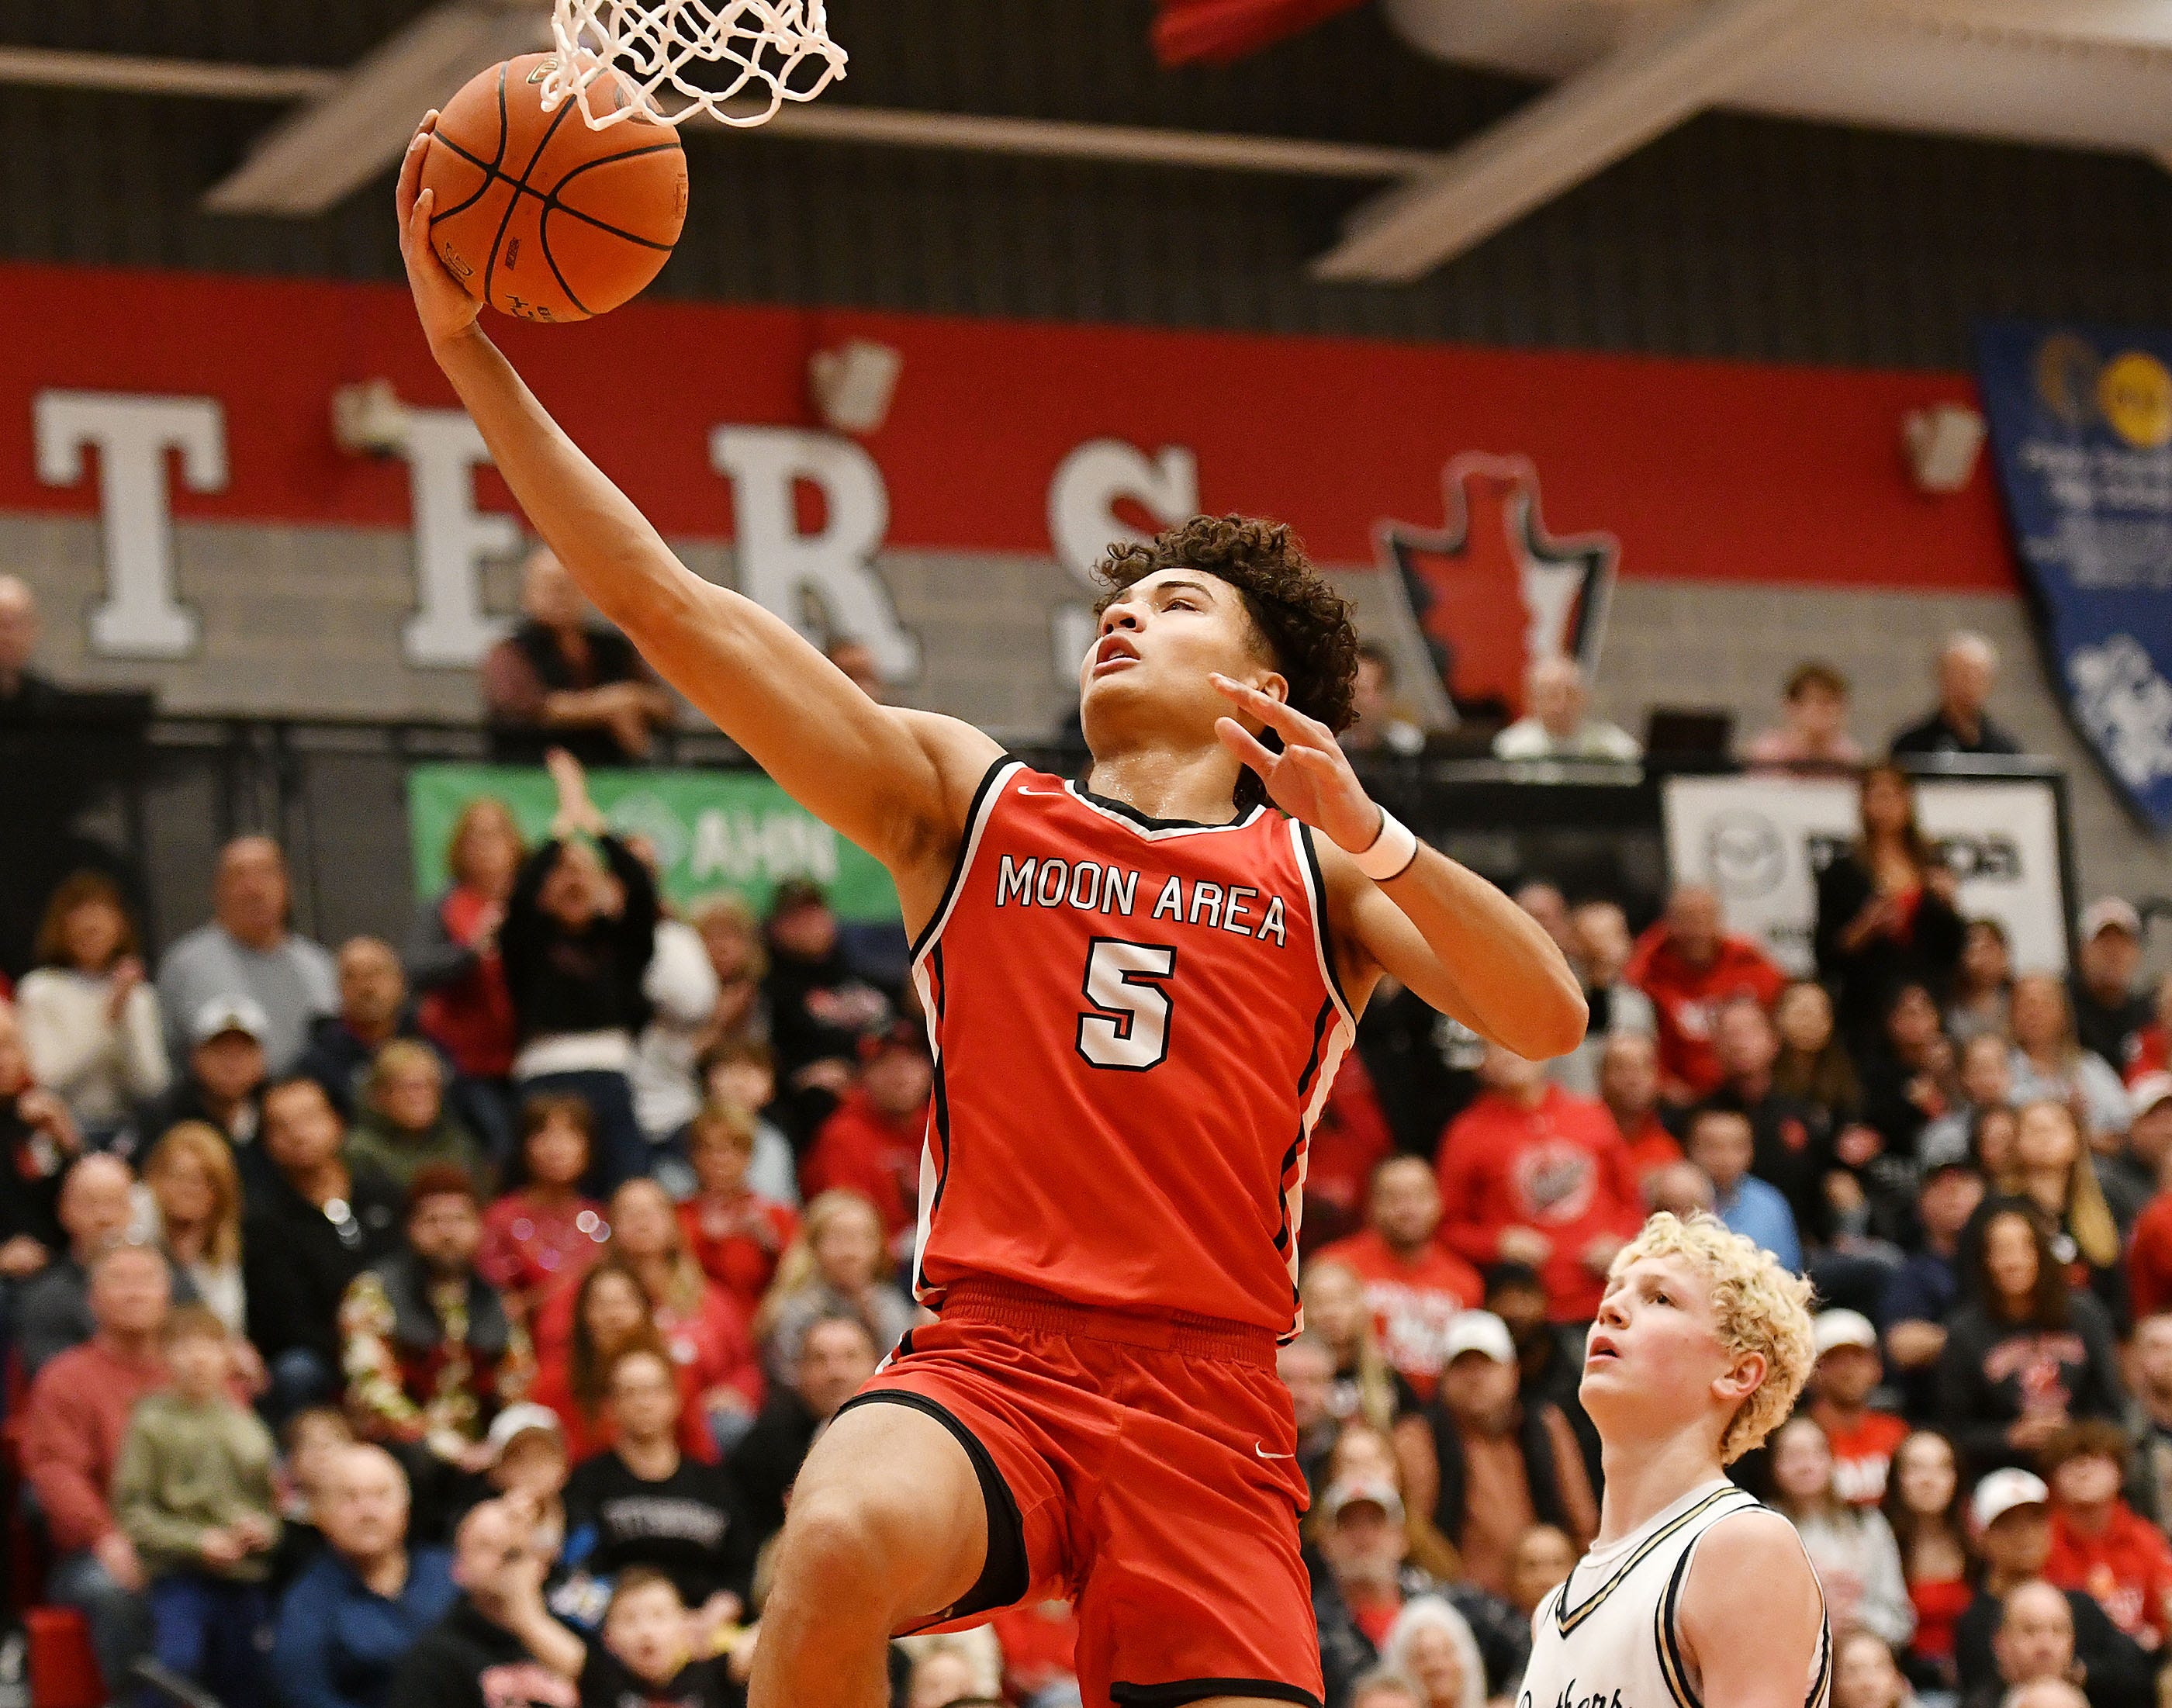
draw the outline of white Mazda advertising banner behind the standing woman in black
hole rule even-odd
[[[1727,928],[1807,976],[1818,874],[1857,837],[1855,784],[1790,776],[1666,780],[1666,865],[1720,895]],[[1916,813],[1961,880],[1961,915],[2007,928],[2018,971],[2066,971],[2059,800],[2035,778],[1924,778]]]

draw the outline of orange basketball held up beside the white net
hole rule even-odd
[[[543,111],[552,54],[471,78],[437,117],[421,185],[430,241],[471,296],[521,319],[589,319],[634,298],[686,224],[686,154],[647,115],[591,130],[580,102]],[[615,72],[589,104],[628,106]]]

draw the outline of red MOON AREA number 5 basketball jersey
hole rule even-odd
[[[1312,832],[999,761],[912,945],[936,1084],[914,1293],[967,1276],[1292,1334],[1305,1143],[1355,1032]]]

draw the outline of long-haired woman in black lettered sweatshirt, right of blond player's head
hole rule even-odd
[[[2068,1284],[2035,1206],[1992,1200],[1963,1241],[1961,1276],[1937,1415],[1972,1471],[2024,1465],[2066,1423],[2124,1412],[2111,1319]]]

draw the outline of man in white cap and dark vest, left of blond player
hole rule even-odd
[[[1523,1532],[1551,1523],[1581,1554],[1599,1534],[1599,1499],[1562,1408],[1518,1395],[1507,1323],[1466,1310],[1442,1352],[1440,1386],[1423,1412],[1440,1475],[1434,1523],[1462,1552],[1464,1578],[1507,1595]]]

